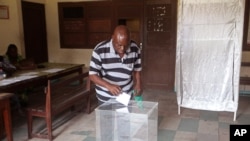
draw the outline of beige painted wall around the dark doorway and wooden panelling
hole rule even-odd
[[[84,63],[86,66],[89,66],[92,49],[61,49],[59,41],[57,2],[76,2],[84,0],[26,1],[45,4],[49,61],[59,63]],[[19,52],[25,56],[23,43],[21,0],[0,0],[0,5],[9,6],[10,14],[10,18],[7,20],[0,19],[0,54],[5,53],[9,43],[15,43],[19,48]],[[242,61],[250,62],[250,52],[243,52]]]

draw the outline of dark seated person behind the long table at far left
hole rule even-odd
[[[10,44],[8,46],[4,57],[5,61],[14,65],[16,69],[29,70],[37,68],[34,60],[24,59],[20,54],[18,54],[17,46],[15,44]]]

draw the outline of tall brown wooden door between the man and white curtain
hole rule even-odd
[[[174,90],[176,0],[146,0],[144,4],[143,85]]]

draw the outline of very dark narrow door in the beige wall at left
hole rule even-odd
[[[48,62],[44,4],[22,1],[25,57]]]

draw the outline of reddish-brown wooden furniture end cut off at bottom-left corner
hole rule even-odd
[[[3,115],[4,119],[3,121],[8,141],[13,141],[11,115],[10,115],[10,100],[9,100],[11,96],[13,96],[13,94],[11,93],[0,93],[0,112],[1,112],[0,116]],[[0,130],[0,137],[1,137],[1,130]]]

